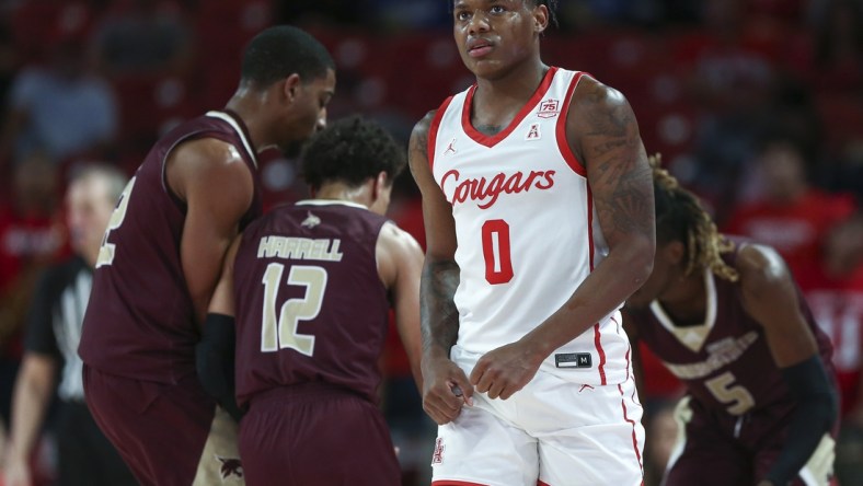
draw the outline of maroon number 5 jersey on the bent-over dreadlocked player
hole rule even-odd
[[[739,245],[738,245],[739,248]],[[734,266],[737,250],[723,255]],[[707,311],[702,324],[677,326],[658,301],[629,310],[638,337],[687,386],[715,412],[743,415],[773,405],[790,405],[791,394],[773,362],[763,327],[744,310],[739,284],[704,275]],[[832,349],[797,291],[801,312],[818,345],[828,374]],[[649,379],[649,378],[648,378]]]

